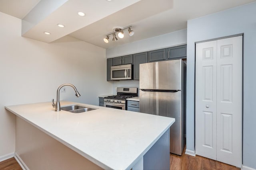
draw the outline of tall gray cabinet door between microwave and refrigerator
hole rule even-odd
[[[140,80],[140,64],[148,63],[148,53],[134,54],[133,61],[133,80]]]

